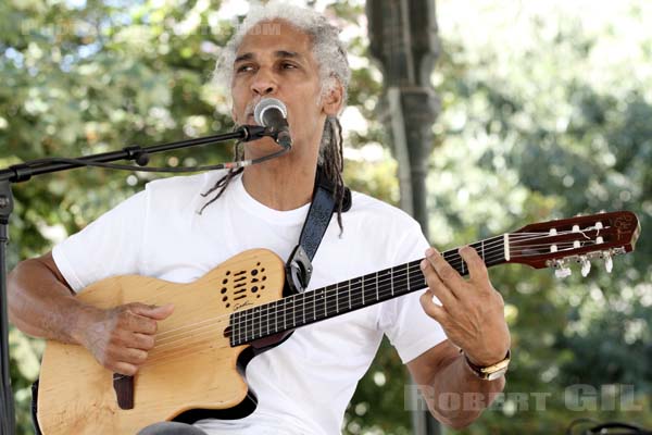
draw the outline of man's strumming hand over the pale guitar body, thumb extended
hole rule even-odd
[[[92,309],[78,340],[104,368],[133,376],[154,347],[156,322],[167,319],[173,304],[127,303],[110,310]]]

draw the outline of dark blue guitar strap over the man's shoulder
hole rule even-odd
[[[349,211],[351,206],[351,190],[344,187],[342,212]],[[325,175],[322,165],[317,165],[313,198],[301,229],[299,245],[294,247],[286,263],[286,283],[292,293],[303,293],[310,284],[312,260],[317,253],[335,209],[335,186]]]

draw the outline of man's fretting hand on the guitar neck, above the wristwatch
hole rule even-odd
[[[464,279],[441,254],[430,248],[421,263],[428,289],[421,303],[439,322],[449,340],[462,348],[476,365],[502,361],[510,348],[510,330],[504,318],[502,296],[489,282],[485,262],[469,246],[460,249],[468,266]],[[441,306],[432,301],[436,296]]]

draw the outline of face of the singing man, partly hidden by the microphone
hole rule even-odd
[[[254,105],[262,98],[277,98],[288,108],[294,144],[304,148],[296,151],[303,153],[312,145],[318,148],[325,120],[319,92],[318,65],[309,35],[284,21],[272,21],[259,23],[244,36],[231,82],[237,124],[255,124]]]

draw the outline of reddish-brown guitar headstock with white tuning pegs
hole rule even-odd
[[[570,274],[570,263],[581,264],[586,276],[590,261],[603,259],[611,272],[612,257],[632,251],[640,232],[638,217],[629,211],[531,224],[509,234],[507,262],[554,268],[563,277]]]

